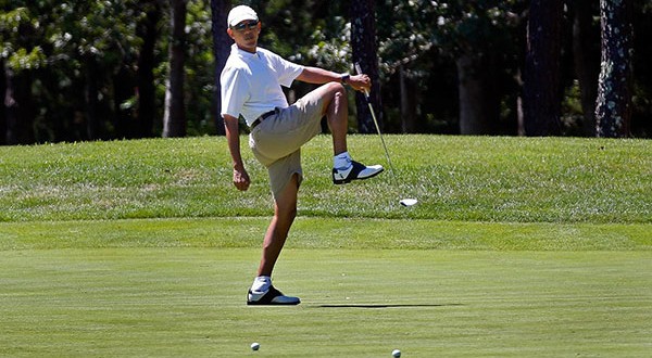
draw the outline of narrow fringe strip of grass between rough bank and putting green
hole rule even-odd
[[[0,223],[0,251],[206,247],[261,244],[269,218]],[[289,248],[648,251],[651,223],[463,222],[300,217]]]

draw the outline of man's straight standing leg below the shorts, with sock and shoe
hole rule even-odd
[[[274,217],[265,233],[258,277],[247,296],[248,305],[298,305],[301,302],[298,297],[285,296],[272,285],[274,266],[297,216],[298,191],[299,178],[294,174],[275,197]]]

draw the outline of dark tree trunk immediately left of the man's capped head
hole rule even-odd
[[[213,57],[215,59],[215,93],[213,94],[215,112],[213,113],[215,113],[215,128],[220,136],[226,133],[224,129],[224,119],[222,118],[222,100],[220,98],[222,87],[220,85],[220,75],[230,54],[230,46],[233,43],[231,38],[226,33],[226,17],[229,8],[230,1],[228,0],[211,0],[211,16],[213,20],[211,29],[213,33]]]

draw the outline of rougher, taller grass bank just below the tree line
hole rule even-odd
[[[242,142],[247,142],[246,139]],[[388,136],[389,174],[333,186],[330,139],[303,151],[301,216],[509,222],[652,222],[652,142]],[[243,145],[244,146],[244,145]],[[350,151],[385,163],[376,136]],[[224,138],[0,148],[0,221],[268,216],[264,168],[231,184]],[[419,205],[399,209],[399,199]]]

